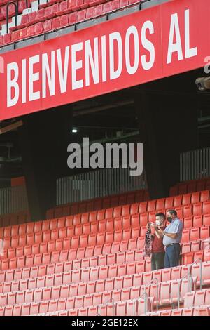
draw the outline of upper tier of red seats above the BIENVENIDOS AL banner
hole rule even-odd
[[[112,11],[126,6],[138,4],[142,0],[49,0],[38,5],[38,1],[28,1],[31,5],[29,13],[25,0],[18,4],[18,23],[15,27],[15,6],[10,5],[9,17],[13,16],[10,22],[9,32],[6,33],[6,3],[0,3],[0,46],[13,43],[18,40],[34,37],[68,25],[75,25],[78,22],[97,18]],[[144,0],[148,1],[148,0]],[[34,4],[34,5],[33,5]],[[10,20],[11,21],[11,20]]]

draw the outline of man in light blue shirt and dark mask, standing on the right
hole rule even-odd
[[[175,210],[167,211],[167,220],[169,225],[165,230],[158,227],[158,233],[163,237],[165,245],[165,265],[164,268],[179,266],[179,256],[181,251],[181,236],[183,231],[183,223],[177,217]]]

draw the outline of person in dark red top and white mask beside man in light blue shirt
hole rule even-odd
[[[152,270],[158,270],[164,268],[165,263],[165,246],[162,244],[162,237],[156,231],[156,228],[160,227],[165,230],[165,214],[157,213],[155,216],[155,223],[148,223],[147,229],[151,225],[151,228],[155,229],[154,235],[152,235]]]

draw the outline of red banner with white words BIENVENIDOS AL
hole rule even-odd
[[[202,67],[209,17],[209,0],[174,0],[5,53],[0,120]]]

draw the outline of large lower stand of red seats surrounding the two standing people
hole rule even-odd
[[[171,208],[181,265],[152,272],[146,223]],[[209,227],[209,190],[1,227],[0,315],[209,315]]]

